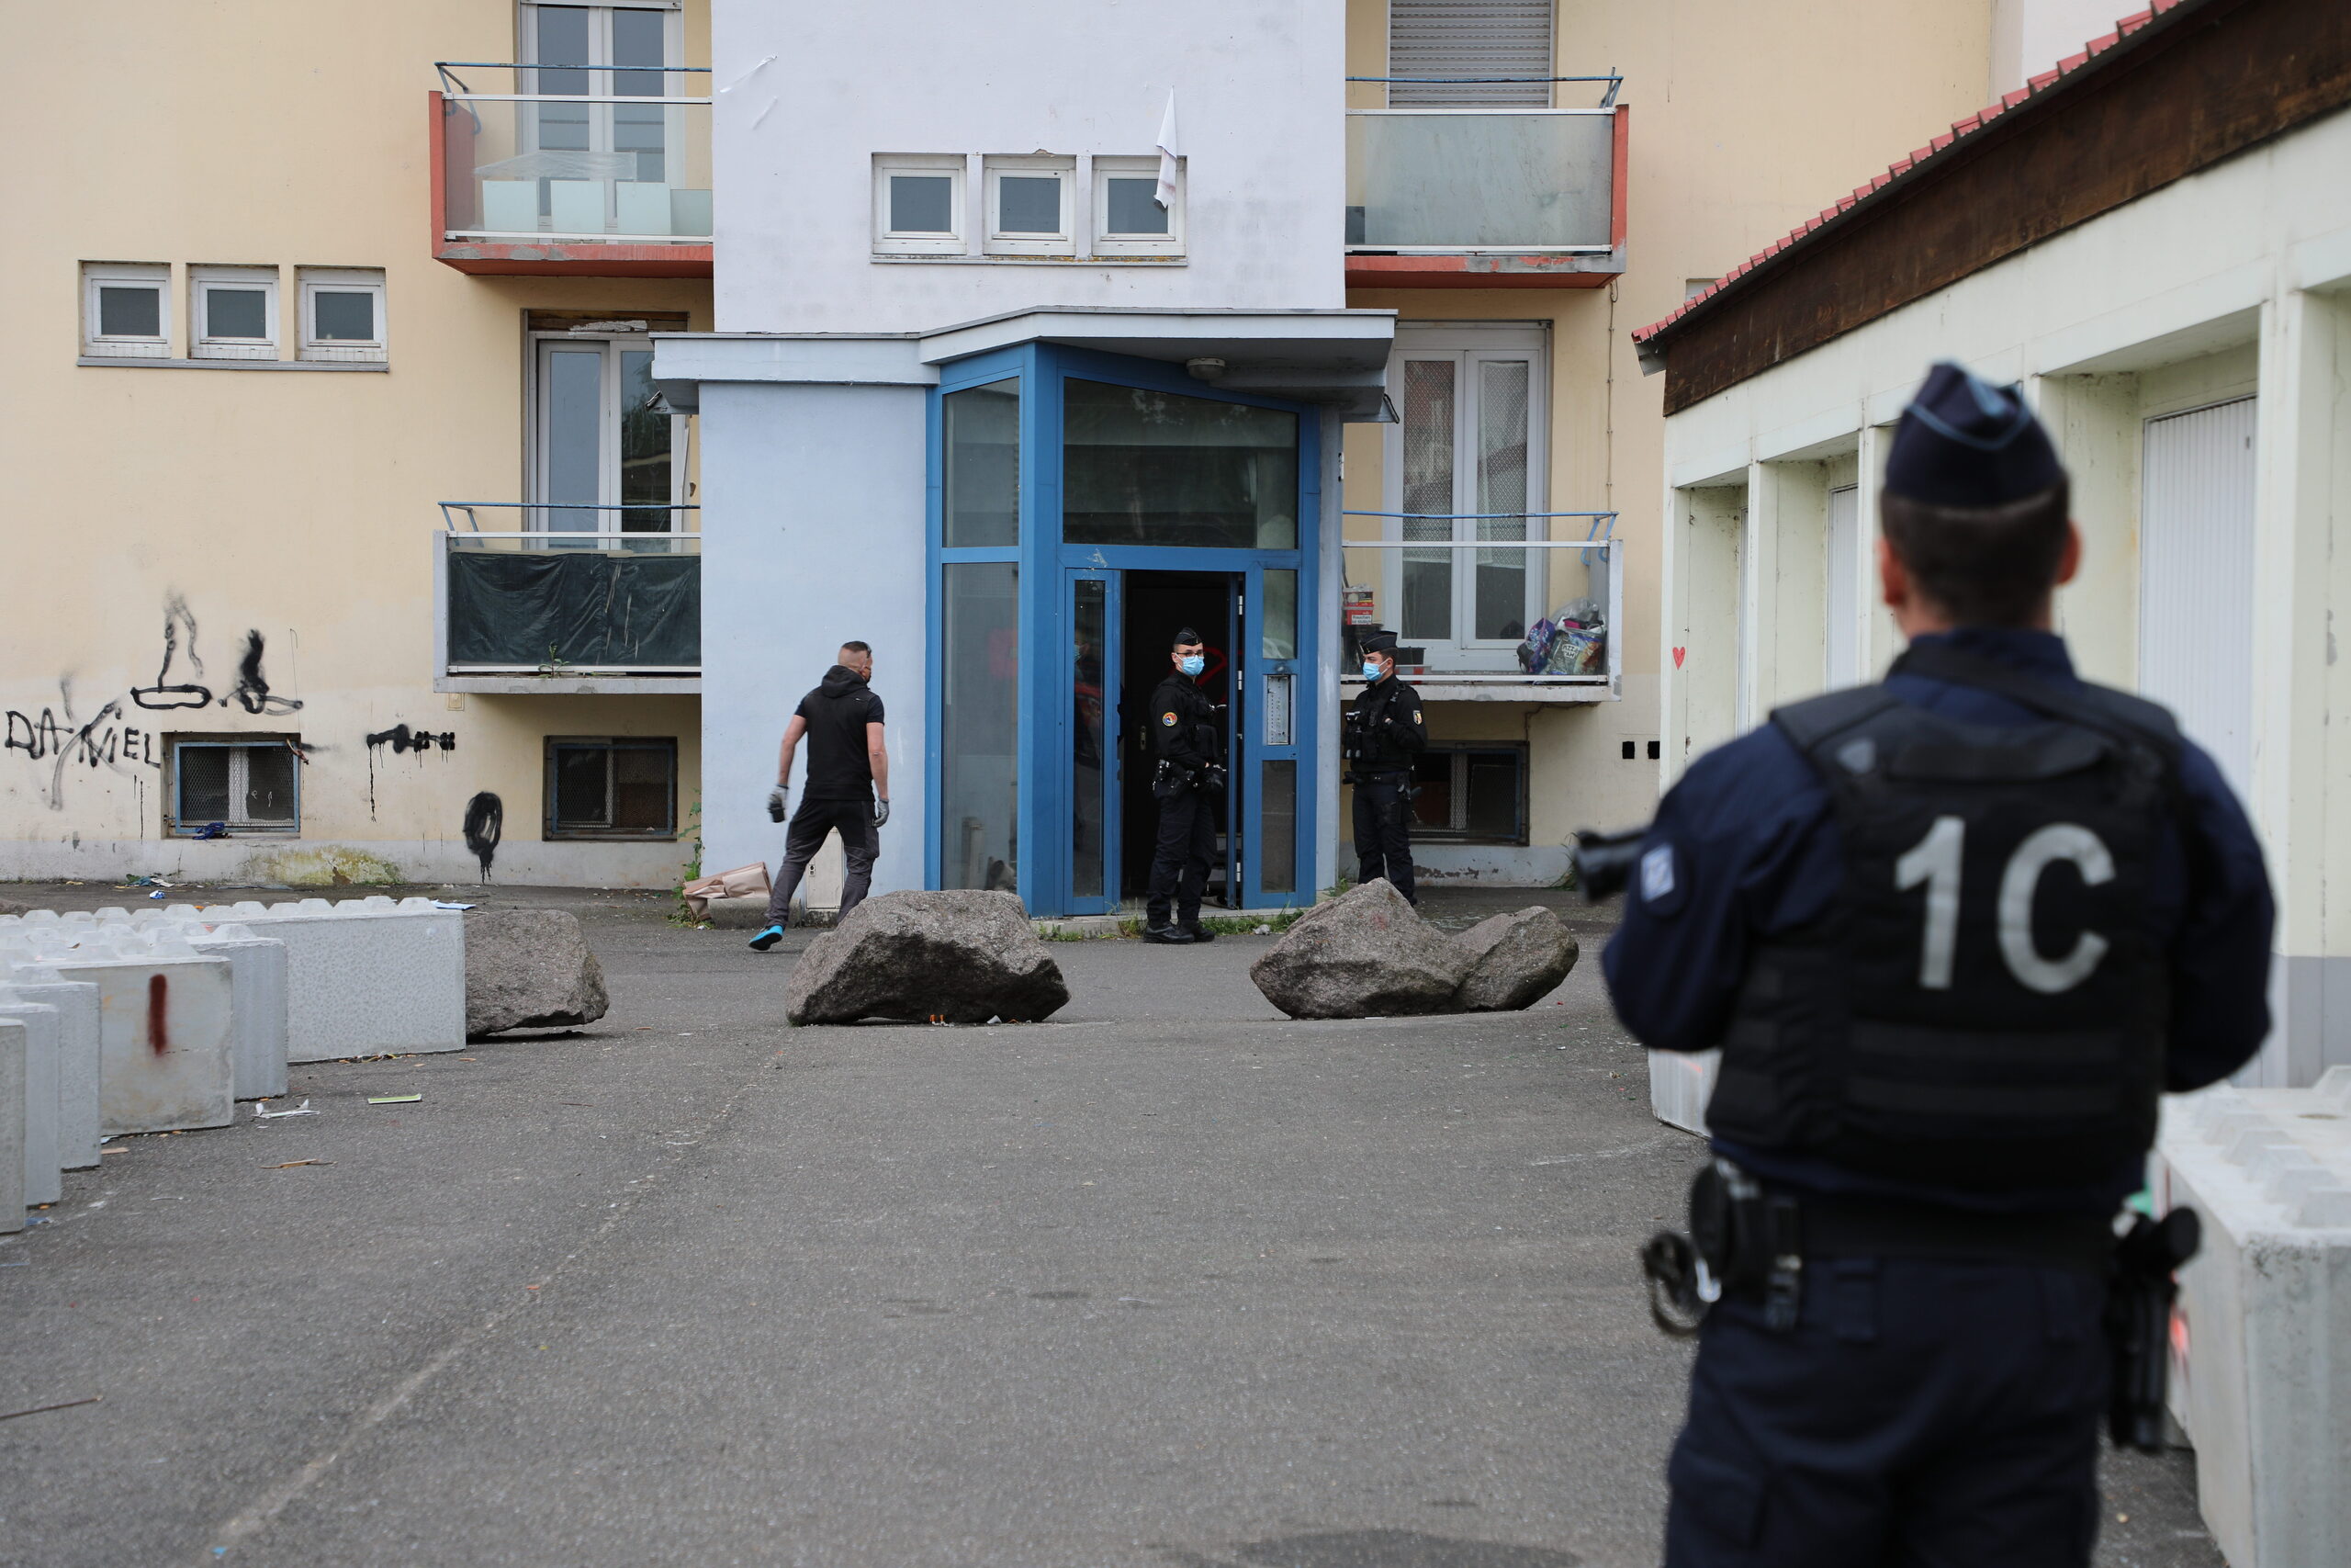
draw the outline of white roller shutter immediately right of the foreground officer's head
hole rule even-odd
[[[2139,691],[2252,785],[2255,400],[2146,421],[2139,470]]]

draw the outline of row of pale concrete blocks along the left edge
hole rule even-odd
[[[289,1063],[465,1046],[430,898],[0,914],[0,1229],[118,1133],[228,1126]]]

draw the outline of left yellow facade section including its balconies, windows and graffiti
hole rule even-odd
[[[19,26],[0,877],[675,882],[705,7],[226,14]]]

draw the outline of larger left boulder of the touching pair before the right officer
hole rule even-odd
[[[1396,1018],[1453,1011],[1469,964],[1380,877],[1310,910],[1248,978],[1291,1018]]]

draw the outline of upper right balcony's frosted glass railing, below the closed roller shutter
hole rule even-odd
[[[1620,75],[1347,78],[1462,87],[1606,82],[1594,108],[1347,110],[1347,249],[1385,254],[1608,252],[1617,242]],[[1422,94],[1427,96],[1427,94]]]

